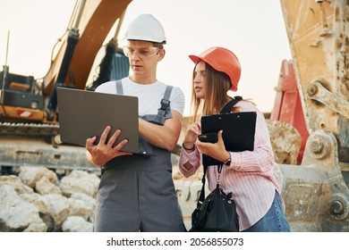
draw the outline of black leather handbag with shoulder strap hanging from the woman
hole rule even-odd
[[[230,112],[234,104],[242,100],[242,97],[235,96],[235,99],[222,109],[221,113]],[[217,187],[205,198],[206,171],[208,166],[204,164],[202,187],[196,209],[192,212],[191,232],[238,232],[239,221],[236,212],[236,205],[232,193],[226,194],[219,187],[219,176],[223,164],[217,165],[218,179]]]

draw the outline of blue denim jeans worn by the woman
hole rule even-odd
[[[275,192],[274,201],[268,212],[260,221],[243,232],[289,232],[290,226],[286,220],[280,196]]]

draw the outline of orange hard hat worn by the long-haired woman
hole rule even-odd
[[[199,55],[189,55],[192,62],[198,63],[200,60],[214,68],[216,71],[225,72],[231,82],[231,90],[237,90],[237,84],[241,76],[241,66],[236,55],[224,47],[210,47]]]

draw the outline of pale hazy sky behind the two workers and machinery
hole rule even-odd
[[[0,0],[1,67],[6,63],[12,73],[42,78],[74,4],[75,0]],[[251,98],[260,111],[272,111],[282,61],[292,59],[279,0],[133,0],[120,39],[127,24],[143,12],[153,14],[166,31],[166,57],[158,64],[157,79],[183,89],[184,115],[190,114],[194,66],[188,55],[211,46],[230,49],[242,65],[238,90],[229,95]],[[112,29],[106,43],[113,35]]]

